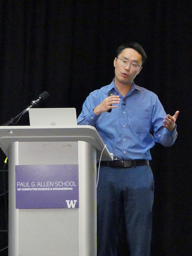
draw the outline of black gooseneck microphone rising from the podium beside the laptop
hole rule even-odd
[[[37,100],[32,100],[30,105],[25,110],[23,110],[19,115],[15,116],[15,117],[12,117],[12,119],[10,121],[3,124],[2,126],[7,126],[9,124],[11,124],[11,125],[16,124],[19,121],[19,119],[21,118],[21,116],[23,116],[25,113],[27,113],[30,108],[38,108],[40,103],[43,102],[43,101],[46,101],[48,98],[49,98],[49,93],[48,92],[42,92],[38,96]],[[17,119],[17,121],[15,123],[13,123],[16,119]]]

